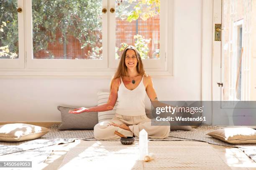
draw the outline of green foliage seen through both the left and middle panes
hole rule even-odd
[[[67,42],[67,35],[73,36],[82,44],[82,48],[100,46],[101,40],[100,0],[32,0],[33,16],[33,52],[47,50],[49,42]],[[8,31],[0,37],[0,45],[9,45],[18,51],[18,15],[17,1],[0,0],[0,20],[8,21]],[[6,22],[7,23],[7,22]],[[2,46],[2,45],[1,45]],[[96,49],[96,48],[95,48]],[[97,52],[96,52],[97,53]]]

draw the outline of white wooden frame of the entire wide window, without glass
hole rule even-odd
[[[23,25],[23,67],[0,67],[0,75],[53,75],[53,76],[111,76],[114,74],[119,60],[114,61],[115,50],[111,50],[115,46],[115,39],[111,38],[113,32],[115,34],[115,29],[105,29],[105,37],[107,43],[103,48],[107,48],[106,57],[103,56],[102,63],[99,63],[99,60],[95,60],[93,63],[89,60],[67,60],[61,61],[61,59],[56,59],[56,61],[43,61],[47,59],[33,59],[32,60],[32,7],[31,0],[19,0],[22,1],[24,9],[24,22]],[[102,0],[102,2],[107,2],[108,0]],[[163,4],[164,5],[163,5]],[[160,58],[158,63],[154,63],[156,60],[147,59],[143,60],[143,64],[146,72],[149,75],[163,75],[163,76],[174,76],[173,74],[173,0],[161,0],[161,14],[160,15]],[[113,19],[112,13],[109,12],[111,7],[115,7],[115,0],[110,0],[109,3],[102,3],[102,7],[105,7],[108,10],[107,18],[105,21],[110,25],[115,24],[115,19]],[[22,13],[23,14],[23,13]],[[110,19],[112,17],[112,20]],[[102,21],[103,22],[103,21]],[[103,23],[102,23],[103,24]],[[20,26],[21,27],[21,26]],[[112,26],[113,27],[113,26]],[[21,29],[22,29],[21,28]],[[103,31],[103,30],[102,30]],[[111,33],[112,32],[112,33]],[[167,36],[166,36],[167,35]],[[26,36],[26,39],[24,39]],[[114,45],[112,45],[114,44]],[[111,46],[112,45],[112,46]],[[21,47],[21,46],[19,46]],[[25,51],[26,50],[26,51]],[[106,50],[106,49],[105,49]],[[19,50],[19,53],[22,52]],[[25,60],[25,62],[24,62]],[[36,61],[38,60],[38,61]],[[48,59],[51,60],[51,59]],[[0,63],[2,60],[0,60]],[[114,65],[114,66],[113,66]],[[22,69],[21,69],[22,68]]]

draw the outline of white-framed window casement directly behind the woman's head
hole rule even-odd
[[[110,21],[115,25],[115,30],[110,30],[110,37],[115,37],[110,43],[110,56],[115,55],[110,67],[117,67],[123,49],[133,45],[140,51],[145,68],[166,70],[168,0],[118,0],[111,5],[116,15]]]

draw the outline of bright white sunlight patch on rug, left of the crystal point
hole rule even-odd
[[[88,148],[74,148],[76,149],[76,152],[73,152],[74,155],[69,155],[72,159],[64,159],[65,164],[60,167],[60,170],[78,168],[81,164],[86,165],[87,169],[122,167],[122,170],[131,170],[138,160],[138,145],[127,146],[124,145],[123,149],[115,150],[115,145],[113,145],[110,151],[102,146],[100,141],[97,141]]]

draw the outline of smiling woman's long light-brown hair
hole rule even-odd
[[[129,45],[123,50],[123,54],[120,58],[118,68],[115,72],[115,75],[112,77],[112,80],[111,80],[111,83],[110,83],[110,92],[111,92],[111,89],[112,89],[112,84],[113,84],[114,79],[128,75],[127,66],[125,65],[125,55],[126,55],[127,50],[134,50],[135,53],[136,53],[136,56],[137,56],[137,66],[136,67],[137,67],[138,74],[141,75],[141,76],[143,76],[143,75],[147,76],[146,71],[144,70],[144,67],[143,67],[143,63],[142,63],[142,60],[141,60],[140,53],[138,52],[136,47],[134,47],[132,45]]]

